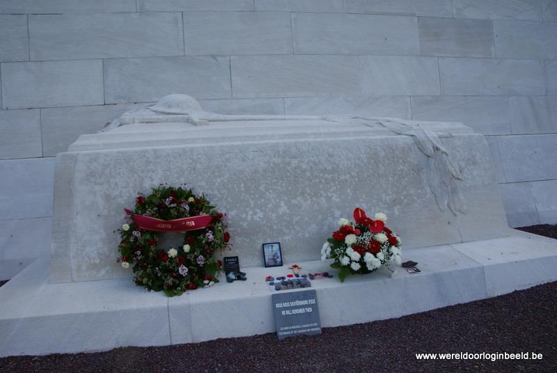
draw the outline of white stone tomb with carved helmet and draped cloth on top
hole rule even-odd
[[[80,136],[56,159],[51,280],[131,276],[118,266],[123,209],[187,183],[228,214],[243,266],[280,241],[315,260],[354,207],[384,212],[404,248],[508,233],[487,143],[456,122],[353,116],[222,116],[171,95]]]

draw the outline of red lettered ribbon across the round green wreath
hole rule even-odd
[[[182,219],[162,220],[151,216],[134,214],[129,209],[125,209],[124,211],[128,215],[132,215],[134,223],[136,223],[139,228],[155,232],[188,232],[189,230],[207,228],[207,226],[209,226],[213,221],[213,217],[210,215],[198,215]]]

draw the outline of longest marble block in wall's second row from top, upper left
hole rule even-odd
[[[39,61],[184,54],[181,13],[31,15],[29,40]]]

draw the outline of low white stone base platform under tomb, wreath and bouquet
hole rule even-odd
[[[323,327],[400,317],[485,299],[557,280],[557,241],[510,230],[510,237],[409,249],[423,273],[398,268],[313,280]],[[298,263],[303,272],[329,262]],[[395,266],[393,266],[394,268]],[[121,346],[201,342],[274,331],[267,274],[288,265],[245,269],[248,280],[221,282],[168,299],[127,279],[49,283],[40,258],[0,288],[0,356],[100,351]],[[290,290],[297,291],[297,290]]]

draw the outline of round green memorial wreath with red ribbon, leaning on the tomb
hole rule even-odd
[[[139,195],[127,223],[118,230],[122,267],[132,267],[139,286],[168,296],[217,283],[222,262],[214,254],[230,245],[226,216],[204,195],[161,184],[148,196]],[[159,246],[159,232],[183,232],[180,246]]]

